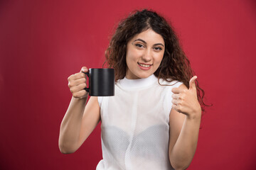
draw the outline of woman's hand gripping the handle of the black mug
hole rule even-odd
[[[74,98],[85,98],[88,96],[87,91],[85,91],[86,75],[83,72],[88,72],[87,67],[82,67],[79,73],[68,77],[68,87]]]

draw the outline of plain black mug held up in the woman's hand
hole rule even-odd
[[[83,73],[89,77],[85,91],[90,96],[114,96],[114,69],[89,69]]]

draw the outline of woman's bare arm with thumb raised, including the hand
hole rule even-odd
[[[186,169],[193,159],[201,123],[201,106],[196,97],[193,77],[190,88],[185,85],[173,89],[170,113],[169,159],[174,169]]]

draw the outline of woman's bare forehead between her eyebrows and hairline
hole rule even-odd
[[[164,38],[160,34],[154,32],[154,30],[152,30],[150,28],[142,31],[142,33],[134,35],[134,37],[131,40],[134,41],[137,39],[142,39],[146,42],[154,42],[154,43],[164,44]]]

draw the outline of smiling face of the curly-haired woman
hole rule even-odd
[[[141,79],[154,74],[164,57],[164,39],[148,29],[127,43],[127,79]]]

